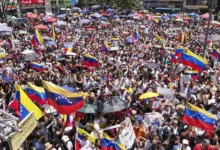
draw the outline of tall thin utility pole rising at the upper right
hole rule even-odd
[[[210,0],[211,3],[211,8],[209,9],[209,20],[208,20],[208,26],[206,29],[206,35],[205,35],[205,41],[203,44],[203,57],[206,56],[206,52],[207,52],[207,41],[208,41],[208,36],[209,36],[209,28],[210,28],[210,23],[211,23],[211,19],[212,19],[212,10],[214,7],[214,0]]]

